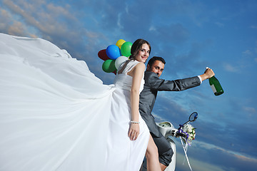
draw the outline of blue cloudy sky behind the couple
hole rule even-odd
[[[144,38],[162,56],[161,78],[197,76],[212,68],[225,93],[208,81],[182,92],[160,92],[153,114],[178,127],[197,111],[193,170],[255,170],[257,166],[257,1],[34,1],[0,0],[0,32],[39,37],[84,60],[106,84],[97,53],[119,39]],[[176,170],[182,165],[177,142]]]

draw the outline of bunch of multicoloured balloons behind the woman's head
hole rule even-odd
[[[106,49],[99,51],[99,58],[104,60],[103,71],[116,74],[116,70],[121,66],[121,63],[124,63],[131,56],[131,46],[131,42],[119,39],[116,45],[110,45]]]

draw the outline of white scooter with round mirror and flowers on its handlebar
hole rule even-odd
[[[175,142],[171,139],[172,137],[176,138],[181,138],[181,142],[183,145],[183,150],[186,155],[186,150],[187,150],[187,145],[191,145],[191,141],[194,139],[194,136],[196,135],[195,133],[195,128],[193,128],[192,125],[188,124],[189,122],[193,122],[198,118],[198,113],[193,112],[189,116],[189,119],[186,123],[183,125],[179,125],[180,127],[178,129],[174,128],[174,126],[170,122],[162,122],[162,123],[156,123],[158,125],[158,129],[160,130],[161,134],[168,140],[168,142],[171,145],[171,148],[173,150],[173,156],[171,163],[168,165],[165,171],[174,171],[176,167],[176,144]],[[188,161],[188,157],[186,155],[186,159],[188,162],[188,166],[191,169],[191,166]],[[141,168],[141,171],[147,171],[146,169],[146,160],[143,160],[143,166]]]

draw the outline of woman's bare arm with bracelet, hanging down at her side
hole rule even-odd
[[[133,77],[131,86],[131,121],[134,122],[138,122],[139,88],[145,68],[146,66],[144,65],[144,63],[138,63],[131,72],[131,76]],[[136,140],[136,138],[138,138],[138,135],[139,124],[131,123],[129,128],[129,138],[131,140]]]

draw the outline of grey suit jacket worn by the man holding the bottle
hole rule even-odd
[[[146,71],[144,75],[145,84],[140,94],[139,100],[139,112],[145,120],[146,125],[150,130],[151,135],[154,137],[161,137],[161,133],[158,131],[155,121],[151,115],[153,105],[156,100],[158,91],[181,91],[188,88],[193,88],[201,84],[198,76],[192,78],[179,79],[176,81],[165,81],[158,78],[156,73]]]

